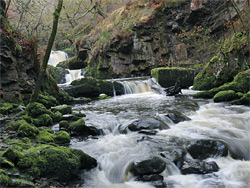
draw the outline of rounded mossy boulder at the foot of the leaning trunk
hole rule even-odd
[[[53,115],[53,113],[46,109],[46,107],[42,103],[33,102],[27,105],[26,111],[28,112],[28,115],[31,117],[38,117],[42,114],[48,114],[50,116]]]

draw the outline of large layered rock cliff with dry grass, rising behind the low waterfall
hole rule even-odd
[[[213,43],[229,19],[226,1],[157,2],[127,4],[76,40],[78,59],[88,62],[87,76],[144,76],[155,67],[190,67],[213,57]]]

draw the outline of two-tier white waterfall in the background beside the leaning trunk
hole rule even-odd
[[[63,51],[52,51],[49,58],[49,65],[56,67],[56,65],[62,61],[68,59],[68,54]],[[65,75],[65,85],[70,84],[72,81],[81,79],[84,77],[84,70],[77,69],[77,70],[69,70],[66,69],[67,74]]]

